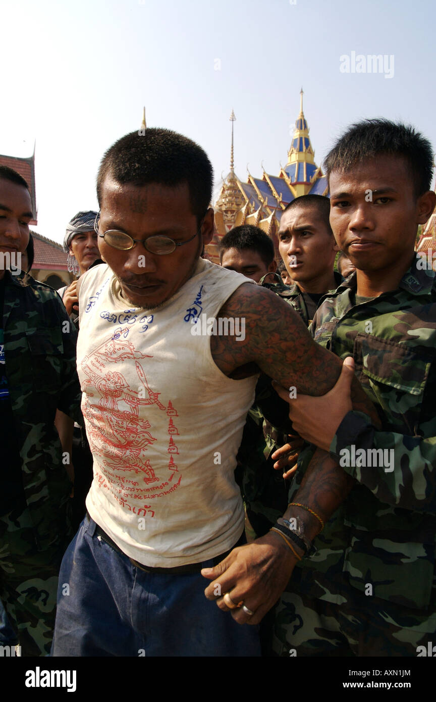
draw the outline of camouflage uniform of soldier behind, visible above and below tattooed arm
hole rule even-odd
[[[341,275],[335,273],[334,277],[336,284],[341,284]],[[311,322],[297,284],[288,287],[278,274],[267,274],[261,284],[292,305],[306,325]],[[271,453],[285,444],[292,432],[288,413],[288,405],[273,390],[271,378],[261,376],[238,453],[247,517],[257,536],[264,536],[287,508],[288,485],[282,472],[274,470]]]

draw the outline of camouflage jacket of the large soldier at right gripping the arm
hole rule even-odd
[[[423,609],[435,567],[435,272],[418,270],[415,258],[396,291],[360,304],[356,286],[353,274],[323,300],[311,332],[341,359],[353,356],[383,430],[358,412],[339,426],[330,452],[356,484],[315,539],[318,553],[302,563],[301,587],[313,597],[341,602],[339,583],[346,574],[357,590],[368,593],[371,585],[375,597]],[[364,460],[353,460],[358,449],[364,449]],[[301,453],[290,498],[312,450]]]

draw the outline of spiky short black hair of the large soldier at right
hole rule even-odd
[[[411,124],[382,118],[364,119],[343,133],[325,159],[327,177],[332,171],[349,171],[355,164],[380,154],[402,157],[406,161],[416,197],[430,190],[433,150],[429,140]]]

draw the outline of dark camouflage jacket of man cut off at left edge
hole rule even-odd
[[[57,293],[24,274],[5,273],[4,354],[22,480],[36,544],[66,530],[71,484],[55,429],[56,409],[81,418],[76,330]]]

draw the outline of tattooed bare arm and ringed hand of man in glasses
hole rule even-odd
[[[253,311],[254,310],[254,311]],[[233,378],[253,372],[255,364],[269,376],[298,392],[322,395],[335,385],[341,373],[341,360],[317,345],[292,308],[268,291],[254,286],[240,286],[219,312],[222,317],[245,319],[243,342],[227,337],[211,337],[212,357],[219,368]],[[239,347],[238,347],[239,344]],[[251,364],[251,365],[250,365]],[[354,378],[352,385],[354,409],[369,413],[378,425],[372,404]],[[307,505],[323,522],[333,515],[346,499],[354,480],[337,465],[328,453],[317,449],[305,472],[294,502]],[[319,533],[319,519],[300,507],[289,506],[285,519],[299,517],[304,522],[305,535],[312,541]],[[303,552],[296,546],[297,555]],[[233,549],[230,555],[212,569],[203,569],[212,581],[205,590],[209,600],[220,609],[228,610],[224,597],[217,599],[216,585],[229,592],[233,602],[244,602],[251,610],[231,609],[238,623],[257,624],[280,597],[289,581],[297,557],[284,539],[270,531],[256,541]]]

